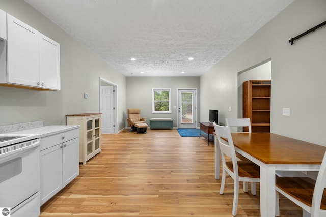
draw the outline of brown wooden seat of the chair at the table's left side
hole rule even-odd
[[[250,177],[258,178],[260,177],[260,168],[257,164],[251,161],[237,161],[239,177]],[[233,172],[232,161],[226,162],[226,166]]]

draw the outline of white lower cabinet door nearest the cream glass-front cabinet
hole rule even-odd
[[[63,143],[63,187],[79,175],[79,138]]]

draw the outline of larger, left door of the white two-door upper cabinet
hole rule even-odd
[[[39,33],[10,14],[7,14],[7,19],[7,81],[37,87],[39,82]]]

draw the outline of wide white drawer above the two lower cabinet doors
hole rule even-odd
[[[40,150],[44,150],[54,145],[64,143],[66,141],[77,138],[78,136],[79,136],[78,129],[74,129],[74,130],[69,130],[69,131],[65,131],[65,132],[61,132],[58,134],[41,138]]]

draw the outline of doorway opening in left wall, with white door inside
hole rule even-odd
[[[102,134],[116,134],[118,126],[118,111],[117,111],[117,89],[115,83],[107,81],[100,77],[100,113],[101,115],[101,131]]]

